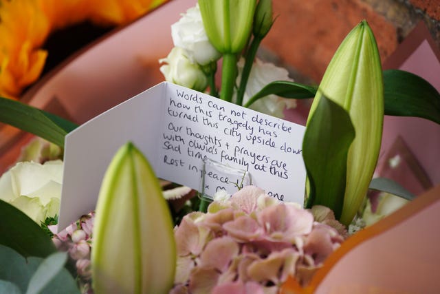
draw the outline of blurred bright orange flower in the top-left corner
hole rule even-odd
[[[166,1],[0,0],[0,96],[18,98],[39,78],[50,32],[86,20],[121,25]]]

